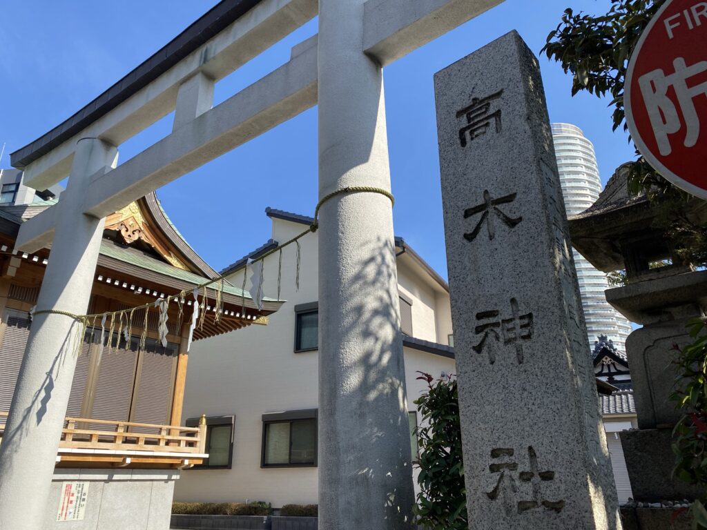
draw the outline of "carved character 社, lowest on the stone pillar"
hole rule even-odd
[[[504,461],[496,461],[489,464],[491,473],[501,473],[496,481],[496,486],[493,490],[486,493],[491,500],[501,498],[506,515],[513,513],[513,508],[519,513],[525,513],[529,510],[536,510],[544,507],[545,510],[553,512],[561,512],[565,507],[563,500],[547,500],[542,495],[542,483],[554,481],[554,471],[539,471],[537,464],[537,454],[532,446],[528,447],[528,460],[530,469],[528,471],[520,471],[516,478],[515,471],[518,471],[518,462],[508,461],[515,454],[515,449],[492,449],[491,459]],[[522,498],[522,493],[519,493],[524,483],[530,484],[530,498]],[[518,500],[518,497],[521,497]]]

